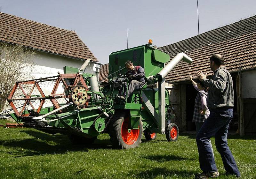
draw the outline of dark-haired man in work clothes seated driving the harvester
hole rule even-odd
[[[131,80],[128,92],[126,94],[127,89],[127,82],[124,82],[122,85],[124,85],[124,94],[123,96],[120,96],[119,98],[125,100],[126,95],[127,98],[131,95],[131,93],[135,89],[141,88],[145,84],[145,72],[141,66],[134,66],[131,61],[125,62],[125,67],[128,70],[127,73],[130,73],[131,75],[128,76],[128,78]]]

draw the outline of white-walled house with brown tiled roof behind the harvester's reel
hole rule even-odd
[[[87,73],[100,66],[97,58],[75,31],[60,29],[0,12],[0,42],[22,45],[36,52],[32,59],[34,77],[63,73],[64,66],[79,68],[86,59]]]

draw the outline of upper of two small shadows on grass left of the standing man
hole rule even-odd
[[[195,160],[195,159],[189,159],[189,158],[184,158],[184,157],[175,156],[175,155],[161,155],[161,154],[160,155],[143,156],[143,158],[148,159],[148,160],[155,160],[157,162]]]

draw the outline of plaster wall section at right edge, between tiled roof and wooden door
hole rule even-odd
[[[256,70],[242,72],[243,98],[256,98]]]

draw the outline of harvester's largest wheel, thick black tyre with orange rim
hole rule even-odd
[[[132,129],[128,132],[130,118],[116,117],[109,127],[109,136],[114,147],[120,149],[136,148],[141,142],[141,134],[143,131],[142,123],[139,122],[139,129]]]

